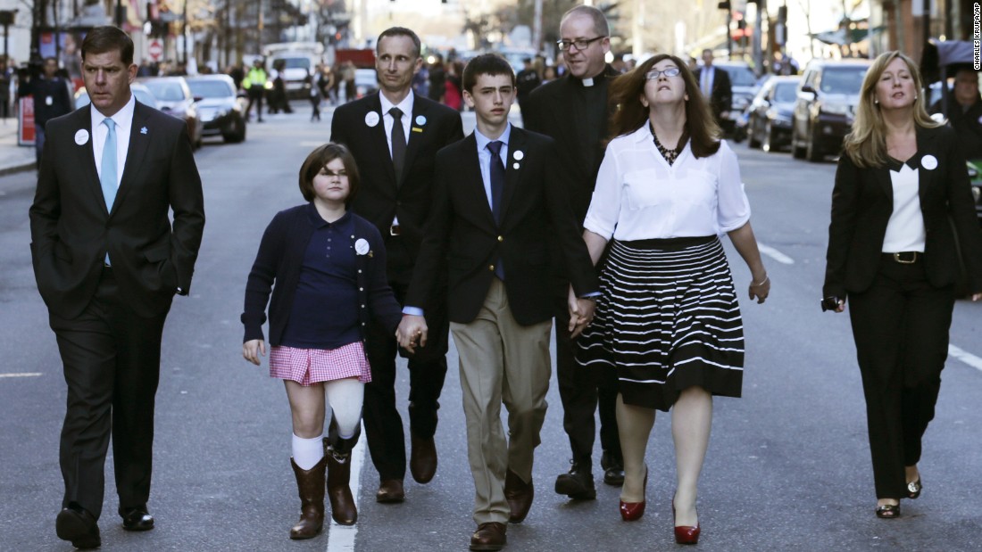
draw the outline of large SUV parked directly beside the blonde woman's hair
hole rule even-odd
[[[801,76],[791,120],[791,155],[821,161],[838,154],[852,128],[869,60],[812,60]]]

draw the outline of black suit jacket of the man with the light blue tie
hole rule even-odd
[[[120,293],[136,313],[166,313],[179,287],[182,295],[191,289],[204,230],[201,178],[187,126],[136,102],[123,178],[107,211],[92,154],[90,109],[47,125],[29,211],[37,289],[51,312],[77,317],[95,293],[108,250]],[[82,131],[86,139],[79,144]]]

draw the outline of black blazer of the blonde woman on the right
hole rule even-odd
[[[922,160],[927,155],[937,159],[936,169],[924,168]],[[928,280],[936,287],[955,282],[957,244],[971,291],[982,292],[982,232],[955,131],[948,126],[918,128],[913,161],[919,169],[921,212],[927,230],[924,263]],[[845,298],[846,293],[861,293],[873,283],[893,212],[890,169],[859,169],[844,154],[839,159],[832,192],[832,224],[822,289],[825,297]],[[954,223],[957,236],[949,220]]]

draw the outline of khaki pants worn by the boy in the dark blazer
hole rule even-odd
[[[461,360],[474,522],[507,524],[506,472],[531,480],[533,451],[546,417],[552,321],[520,326],[505,284],[495,278],[477,318],[469,324],[451,323],[450,328]],[[508,410],[508,440],[501,425],[502,403]]]

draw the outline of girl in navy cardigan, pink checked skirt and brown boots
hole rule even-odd
[[[348,211],[358,187],[348,148],[329,143],[313,150],[300,167],[308,203],[273,218],[246,282],[243,357],[258,366],[266,354],[268,303],[269,375],[283,379],[293,414],[290,464],[300,494],[293,539],[323,527],[325,472],[331,517],[343,526],[357,520],[351,452],[361,434],[364,384],[372,378],[365,327],[375,323],[394,334],[402,316],[386,283],[382,236]]]

